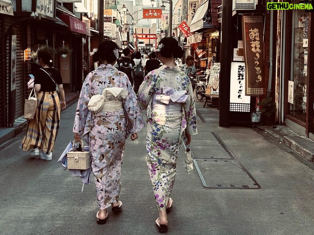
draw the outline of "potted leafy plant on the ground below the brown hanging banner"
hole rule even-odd
[[[262,121],[261,123],[266,126],[270,126],[274,123],[274,114],[276,112],[276,104],[273,102],[272,97],[264,98],[261,102],[257,104],[258,106],[262,106]]]

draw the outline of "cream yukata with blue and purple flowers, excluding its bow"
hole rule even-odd
[[[186,101],[160,102],[164,87],[186,91]],[[147,110],[147,166],[156,204],[159,210],[163,210],[175,181],[176,161],[185,132],[191,135],[198,133],[190,79],[178,66],[163,65],[144,78],[138,91],[138,102],[142,109]]]

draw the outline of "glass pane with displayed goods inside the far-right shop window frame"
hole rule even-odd
[[[293,81],[293,94],[289,96],[293,96],[293,103],[290,103],[289,114],[305,123],[309,14],[304,10],[295,10],[292,27],[290,81]]]

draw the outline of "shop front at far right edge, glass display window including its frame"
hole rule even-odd
[[[309,24],[313,13],[285,11],[284,121],[297,132],[313,138],[313,74],[308,73],[311,38]],[[312,49],[313,50],[313,49]],[[313,52],[312,52],[313,53]],[[314,61],[311,61],[313,63]]]

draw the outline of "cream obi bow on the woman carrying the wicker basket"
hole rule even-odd
[[[92,112],[99,112],[104,105],[108,106],[109,109],[120,109],[121,107],[117,106],[116,101],[119,98],[125,99],[128,95],[128,92],[121,87],[107,87],[102,91],[102,94],[94,95],[90,97],[88,102],[88,109]],[[114,98],[114,100],[110,99]],[[111,102],[114,101],[114,102]],[[122,103],[121,103],[122,105]],[[110,106],[110,107],[109,107]]]

